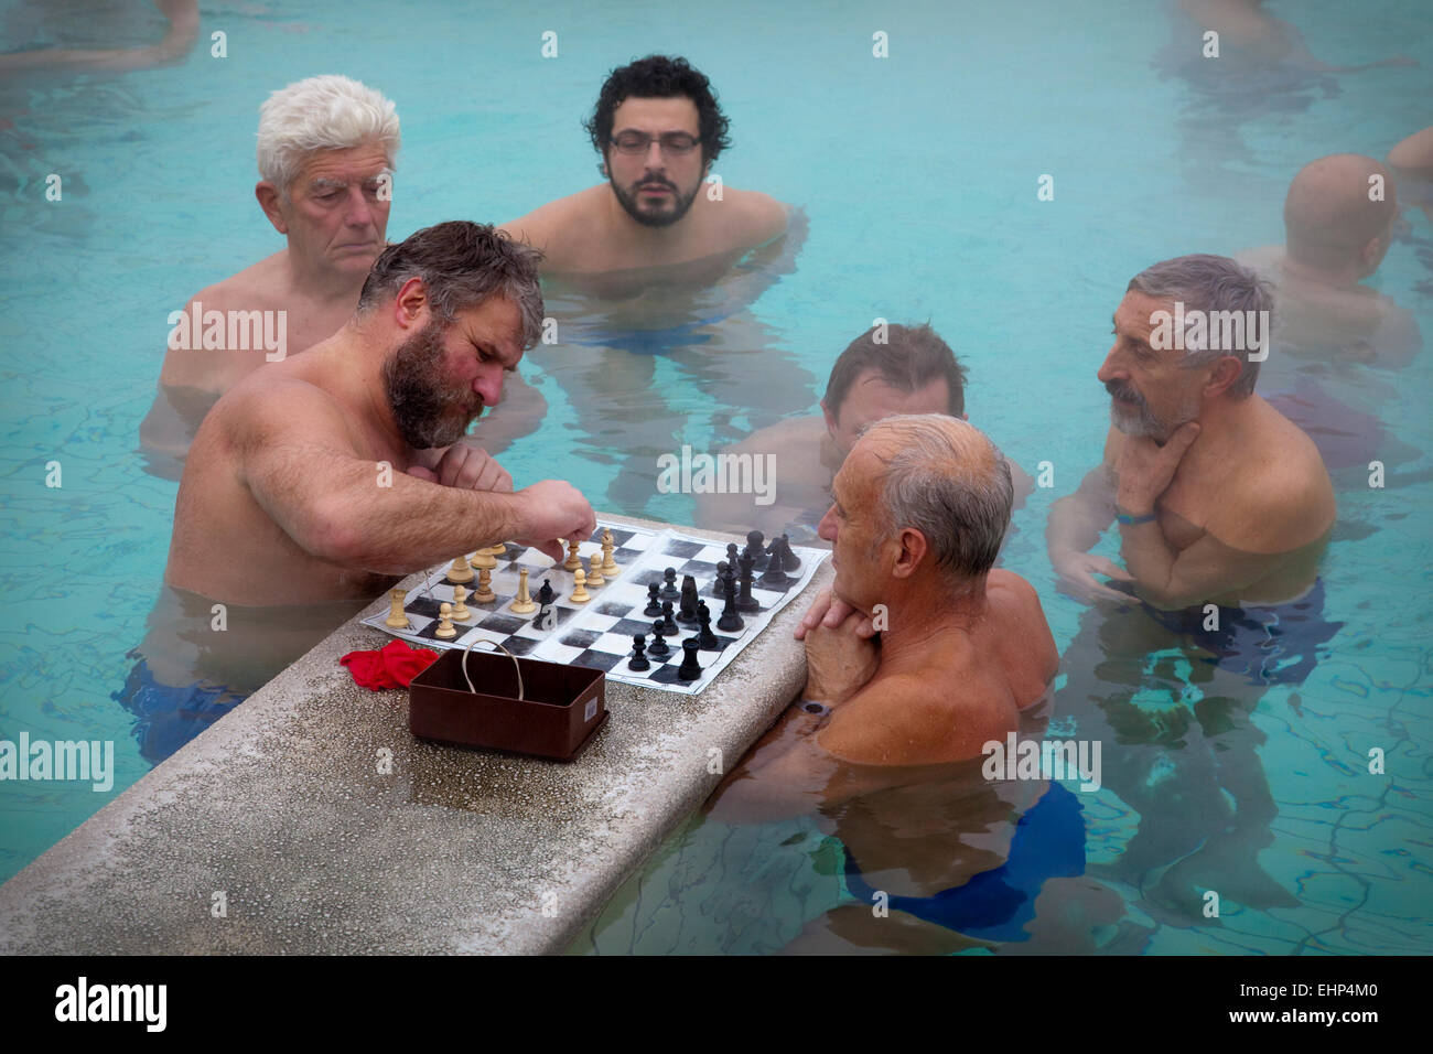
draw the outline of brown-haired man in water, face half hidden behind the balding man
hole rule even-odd
[[[759,429],[724,453],[774,459],[774,500],[704,493],[696,525],[714,531],[792,533],[805,543],[831,505],[831,483],[861,432],[898,413],[941,413],[966,420],[966,369],[929,324],[878,324],[853,340],[831,367],[821,414]],[[1015,508],[1033,480],[1009,462]]]

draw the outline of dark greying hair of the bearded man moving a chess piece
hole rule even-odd
[[[489,224],[453,219],[424,227],[378,255],[358,294],[358,310],[397,295],[410,278],[423,280],[433,313],[443,323],[492,297],[506,297],[522,315],[526,350],[542,336],[540,261],[542,252]]]

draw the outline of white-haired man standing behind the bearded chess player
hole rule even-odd
[[[171,330],[159,394],[139,430],[146,452],[160,455],[160,475],[178,476],[163,456],[183,459],[209,407],[239,379],[331,337],[353,315],[387,244],[398,142],[393,102],[342,76],[299,80],[259,108],[254,196],[288,244],[196,293],[182,328]],[[258,317],[278,340],[229,326],[236,315]],[[238,347],[228,346],[231,333]]]

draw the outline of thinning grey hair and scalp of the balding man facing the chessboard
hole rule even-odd
[[[939,413],[898,414],[861,433],[888,435],[896,453],[880,460],[886,533],[914,528],[937,574],[952,584],[995,566],[1010,525],[1010,466],[983,432]],[[972,456],[972,446],[976,456]]]

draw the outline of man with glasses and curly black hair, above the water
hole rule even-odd
[[[688,264],[684,278],[715,277],[785,231],[785,206],[765,194],[719,182],[704,191],[729,145],[727,118],[685,59],[652,54],[613,70],[586,128],[608,182],[503,224],[543,251],[543,271]]]

